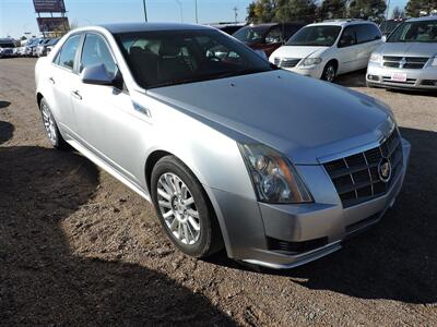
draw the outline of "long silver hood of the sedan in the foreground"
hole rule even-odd
[[[147,94],[238,142],[259,142],[294,164],[373,143],[390,110],[341,86],[277,70],[181,84]]]

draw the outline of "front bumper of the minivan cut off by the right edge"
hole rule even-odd
[[[395,73],[406,74],[406,81],[391,81],[391,75]],[[366,81],[369,86],[376,87],[437,90],[437,68],[428,65],[418,70],[405,70],[369,62]]]

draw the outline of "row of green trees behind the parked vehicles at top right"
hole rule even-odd
[[[249,23],[315,22],[363,19],[381,22],[385,0],[255,0],[247,8]],[[391,17],[437,14],[437,0],[409,0],[405,9],[394,8]]]

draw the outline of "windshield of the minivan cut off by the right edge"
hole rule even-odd
[[[388,43],[437,43],[437,20],[404,22],[390,35]]]

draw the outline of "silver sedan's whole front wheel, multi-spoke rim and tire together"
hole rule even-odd
[[[175,189],[180,192],[174,192]],[[208,195],[179,159],[166,156],[156,162],[152,171],[151,190],[156,215],[177,249],[200,258],[223,247],[220,227]]]

